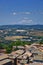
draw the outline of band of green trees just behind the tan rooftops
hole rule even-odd
[[[11,53],[13,46],[16,46],[16,50],[17,50],[18,49],[17,46],[24,46],[25,44],[30,45],[31,42],[17,40],[16,42],[11,42],[9,44],[0,43],[0,49],[6,49],[7,53]]]

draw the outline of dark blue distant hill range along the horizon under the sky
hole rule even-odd
[[[15,28],[15,29],[39,29],[43,30],[43,25],[2,25],[0,26],[0,29],[9,29],[9,28]]]

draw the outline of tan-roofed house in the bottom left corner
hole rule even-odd
[[[12,61],[8,58],[7,54],[0,55],[0,65],[12,65]]]

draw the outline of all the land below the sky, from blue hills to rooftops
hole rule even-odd
[[[0,65],[43,65],[43,25],[0,26]]]

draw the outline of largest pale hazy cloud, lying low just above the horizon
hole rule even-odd
[[[33,20],[28,19],[27,17],[24,17],[23,19],[19,21],[12,22],[12,24],[17,24],[17,25],[31,25],[33,24]]]

